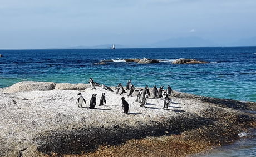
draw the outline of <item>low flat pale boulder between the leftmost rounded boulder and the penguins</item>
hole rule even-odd
[[[55,86],[55,89],[59,90],[85,90],[86,88],[89,88],[89,84],[70,84],[70,83],[57,83]]]

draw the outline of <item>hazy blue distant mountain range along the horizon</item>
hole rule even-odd
[[[95,45],[95,46],[76,46],[67,47],[65,49],[109,49],[112,44],[105,45]],[[170,38],[167,40],[162,40],[156,43],[147,45],[115,45],[118,48],[170,48],[170,47],[218,47],[218,46],[256,46],[256,36],[252,38],[240,39],[233,43],[215,43],[211,40],[207,40],[197,36],[180,37],[180,38]]]

